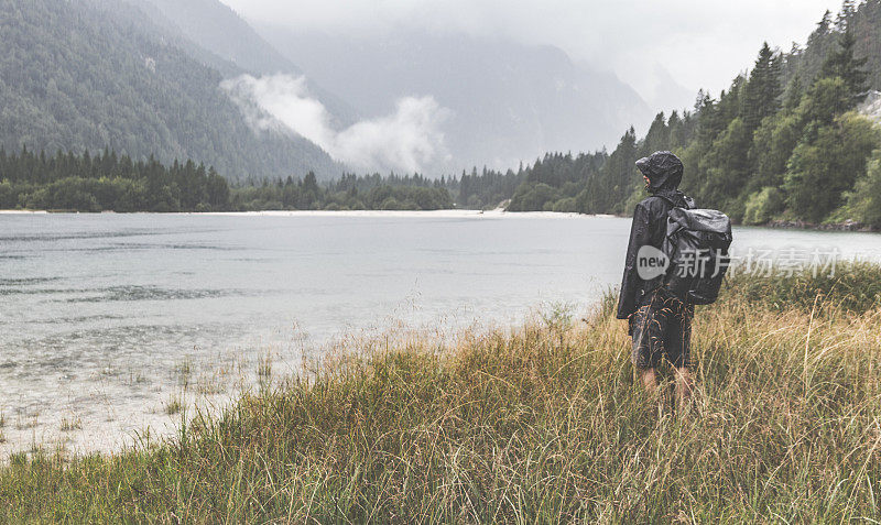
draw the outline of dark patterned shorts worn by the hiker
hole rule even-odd
[[[676,368],[690,367],[694,306],[659,288],[648,295],[632,316],[633,365],[655,368],[662,359]]]

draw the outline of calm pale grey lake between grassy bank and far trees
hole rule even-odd
[[[348,336],[509,326],[619,284],[629,219],[556,214],[0,215],[0,453],[167,434]],[[738,228],[881,261],[881,236]],[[189,411],[192,413],[192,409]]]

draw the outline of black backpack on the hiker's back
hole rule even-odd
[[[662,251],[670,259],[664,288],[694,305],[715,303],[728,271],[731,219],[715,209],[674,206]]]

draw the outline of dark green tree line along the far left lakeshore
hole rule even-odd
[[[64,211],[254,211],[452,208],[449,192],[422,176],[345,175],[318,184],[314,173],[230,186],[214,167],[164,165],[113,151],[53,156],[0,147],[0,209]]]

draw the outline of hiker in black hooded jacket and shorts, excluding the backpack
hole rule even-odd
[[[695,208],[695,203],[677,189],[683,164],[673,153],[655,152],[637,161],[637,167],[651,195],[633,214],[618,318],[629,320],[631,358],[645,389],[656,393],[656,369],[666,360],[675,369],[676,401],[683,406],[690,398],[693,385],[688,353],[694,305],[664,288],[666,265],[660,267],[656,261],[665,259],[661,249],[667,212],[674,207]]]

